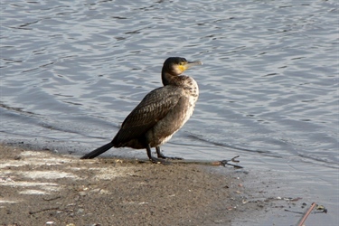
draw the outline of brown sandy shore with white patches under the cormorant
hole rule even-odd
[[[0,153],[0,225],[231,225],[267,205],[231,167]]]

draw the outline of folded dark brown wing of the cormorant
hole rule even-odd
[[[182,88],[165,86],[149,92],[124,120],[113,143],[123,144],[143,136],[177,105],[183,91]]]

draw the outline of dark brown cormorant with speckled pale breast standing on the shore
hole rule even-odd
[[[186,61],[181,57],[170,57],[164,62],[161,72],[164,86],[149,92],[122,123],[116,137],[107,145],[100,146],[81,159],[94,158],[111,147],[129,146],[146,148],[153,163],[165,163],[160,146],[165,144],[176,131],[192,116],[199,88],[193,78],[181,75],[201,61]],[[158,158],[152,156],[155,147]],[[162,159],[160,159],[162,158]]]

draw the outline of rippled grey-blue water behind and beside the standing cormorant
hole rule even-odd
[[[4,0],[1,6],[1,141],[89,152],[162,85],[167,57],[201,60],[202,67],[186,71],[201,90],[193,118],[165,153],[240,155],[253,172],[279,174],[290,196],[325,205],[329,213],[307,225],[339,221],[334,0]],[[146,157],[129,149],[108,155],[126,153]]]

